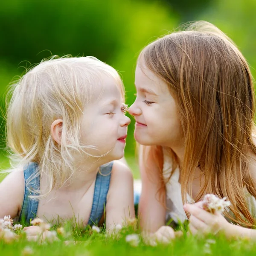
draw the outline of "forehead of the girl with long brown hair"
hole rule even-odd
[[[149,70],[143,59],[138,61],[136,67],[135,85],[137,90],[140,90],[140,88],[143,87],[153,90],[156,94],[169,93],[168,85],[160,79],[159,76]]]

